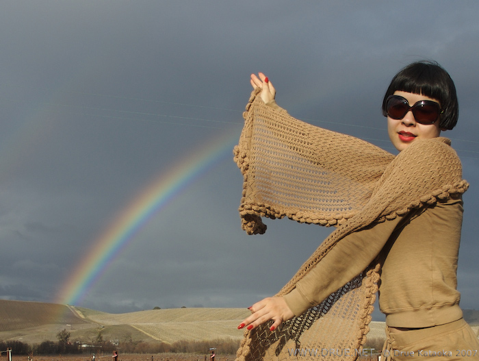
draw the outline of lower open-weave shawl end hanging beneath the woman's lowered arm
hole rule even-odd
[[[354,360],[365,343],[378,281],[378,266],[352,279],[318,306],[284,322],[274,332],[270,323],[253,329],[237,360]],[[337,337],[341,334],[341,337]],[[318,337],[320,335],[320,337]],[[325,350],[327,349],[327,352]]]

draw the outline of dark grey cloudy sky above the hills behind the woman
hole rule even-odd
[[[458,90],[459,123],[443,135],[471,184],[458,288],[477,309],[478,14],[477,1],[2,1],[0,298],[62,301],[146,188],[181,164],[192,173],[207,147],[211,162],[76,304],[246,308],[273,295],[331,229],[267,220],[263,236],[242,231],[232,147],[250,73],[266,73],[293,116],[393,152],[383,92],[430,59]]]

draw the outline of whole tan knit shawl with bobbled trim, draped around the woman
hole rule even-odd
[[[467,190],[461,162],[446,138],[416,140],[395,157],[274,110],[256,96],[259,91],[253,91],[246,106],[246,123],[234,150],[244,175],[243,229],[264,233],[264,216],[337,227],[276,296],[290,292],[344,236]],[[324,359],[331,359],[331,349],[342,355],[334,360],[356,359],[369,331],[378,270],[372,264],[274,332],[272,321],[245,331],[237,360],[290,360],[294,349],[301,349],[296,354],[301,360],[305,352],[322,360],[324,349],[329,350]]]

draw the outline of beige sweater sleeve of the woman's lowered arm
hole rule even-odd
[[[313,269],[302,277],[295,288],[283,296],[292,312],[299,316],[317,306],[359,275],[378,256],[395,229],[400,229],[406,216],[377,223],[342,238]]]

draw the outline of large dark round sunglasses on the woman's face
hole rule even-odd
[[[409,105],[406,98],[400,95],[389,95],[386,100],[386,114],[392,119],[403,119],[407,112],[413,112],[414,119],[417,123],[432,124],[439,115],[444,112],[439,106],[439,103],[432,100],[420,100],[413,106]]]

